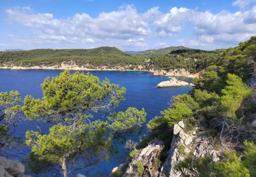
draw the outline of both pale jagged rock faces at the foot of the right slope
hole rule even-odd
[[[218,161],[218,151],[214,149],[208,138],[197,134],[197,129],[185,131],[184,128],[183,121],[174,125],[171,148],[162,166],[156,169],[156,165],[154,165],[164,147],[162,142],[155,140],[134,156],[124,176],[182,176],[180,172],[175,170],[175,165],[184,160],[188,153],[193,154],[193,158],[212,155],[213,161]],[[139,173],[137,170],[138,161],[143,162],[143,173]]]

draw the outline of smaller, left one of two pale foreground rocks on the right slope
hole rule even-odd
[[[134,155],[124,176],[158,176],[159,166],[157,163],[163,148],[162,141],[154,140],[150,142],[146,148]]]

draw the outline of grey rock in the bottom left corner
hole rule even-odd
[[[29,177],[24,174],[25,166],[14,160],[6,159],[5,157],[0,157],[0,176],[2,177]]]

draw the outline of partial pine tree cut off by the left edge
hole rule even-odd
[[[0,93],[0,150],[17,140],[12,133],[17,124],[23,120],[22,116],[17,116],[21,111],[20,100],[18,91]]]

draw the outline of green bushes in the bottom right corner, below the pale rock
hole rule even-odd
[[[175,169],[184,176],[189,172],[193,176],[255,176],[256,146],[253,142],[244,142],[244,152],[239,157],[236,152],[225,152],[225,159],[214,163],[212,157],[193,159],[189,155],[184,161],[177,163]]]

